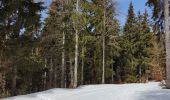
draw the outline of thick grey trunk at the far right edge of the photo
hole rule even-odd
[[[170,88],[170,33],[169,33],[169,4],[164,0],[165,48],[166,48],[166,86]]]

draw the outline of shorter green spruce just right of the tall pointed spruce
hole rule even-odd
[[[141,19],[142,18],[142,19]],[[151,48],[153,34],[150,32],[150,25],[148,21],[148,13],[145,10],[142,17],[138,17],[138,26],[140,29],[137,31],[139,34],[139,40],[136,42],[138,50],[136,51],[136,58],[138,59],[137,76],[141,82],[141,76],[146,75],[146,71],[149,70],[149,63],[151,61]],[[141,20],[140,20],[141,19]]]

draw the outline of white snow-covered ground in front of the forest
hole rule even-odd
[[[51,89],[4,100],[170,100],[170,90],[158,82],[123,85],[86,85],[77,89]]]

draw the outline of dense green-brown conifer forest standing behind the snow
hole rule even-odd
[[[1,0],[0,97],[165,79],[158,1],[146,3],[154,23],[131,2],[122,28],[113,0],[53,0],[44,23],[43,2]]]

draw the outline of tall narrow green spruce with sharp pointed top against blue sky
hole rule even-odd
[[[126,68],[125,68],[125,73],[126,73],[126,80],[131,81],[131,79],[135,80],[134,77],[134,72],[135,72],[135,67],[136,67],[136,62],[134,58],[134,44],[135,44],[135,39],[136,39],[136,17],[134,14],[134,8],[132,2],[130,2],[129,9],[128,9],[128,15],[127,15],[127,20],[124,26],[123,34],[124,34],[124,40],[125,40],[125,56],[127,57],[126,61]]]

